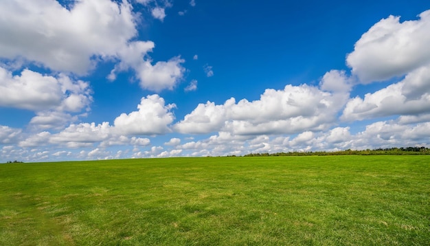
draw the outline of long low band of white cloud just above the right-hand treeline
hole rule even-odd
[[[189,156],[247,155],[249,153],[280,153],[292,151],[363,150],[398,146],[428,146],[429,122],[400,124],[396,120],[375,122],[364,131],[352,134],[350,127],[329,131],[303,131],[297,135],[232,135],[220,132],[199,141],[185,142],[172,150]],[[170,151],[170,150],[166,150]]]

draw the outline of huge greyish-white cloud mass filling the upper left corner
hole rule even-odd
[[[163,10],[154,8],[152,14],[163,19]],[[109,79],[131,68],[142,88],[153,91],[172,89],[185,71],[184,60],[176,57],[152,64],[148,52],[154,43],[131,41],[138,17],[125,0],[82,0],[70,9],[54,0],[5,0],[0,15],[0,58],[78,75],[88,74],[100,60],[117,60]]]

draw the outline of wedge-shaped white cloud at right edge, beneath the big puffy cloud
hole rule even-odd
[[[402,81],[389,85],[364,99],[352,98],[342,120],[363,120],[389,115],[419,115],[430,111],[430,65],[411,71]]]

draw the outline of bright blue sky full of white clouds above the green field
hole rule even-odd
[[[0,162],[430,146],[428,1],[5,0]]]

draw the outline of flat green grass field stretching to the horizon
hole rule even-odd
[[[430,245],[430,157],[4,164],[0,245]]]

